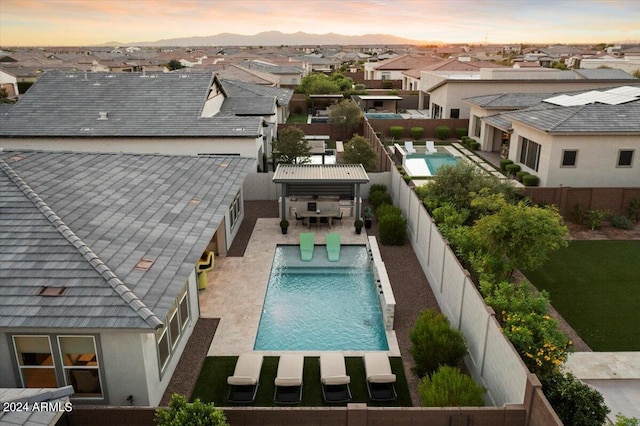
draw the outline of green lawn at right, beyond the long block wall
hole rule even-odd
[[[526,276],[594,351],[640,351],[640,241],[571,241]]]

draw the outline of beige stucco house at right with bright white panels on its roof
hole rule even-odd
[[[640,84],[468,102],[481,149],[502,150],[541,186],[640,186]],[[498,108],[518,110],[490,115]]]

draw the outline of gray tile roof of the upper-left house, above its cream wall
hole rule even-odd
[[[260,135],[259,117],[200,117],[212,84],[210,73],[143,76],[50,71],[7,114],[0,116],[0,136]],[[99,119],[101,112],[107,113],[106,120]]]

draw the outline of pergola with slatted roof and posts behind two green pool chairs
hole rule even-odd
[[[287,217],[287,197],[338,196],[354,202],[360,217],[360,185],[369,182],[362,164],[278,164],[273,182],[282,185],[280,217]]]

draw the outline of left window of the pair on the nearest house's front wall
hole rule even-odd
[[[13,336],[13,346],[23,387],[58,387],[49,336]]]

